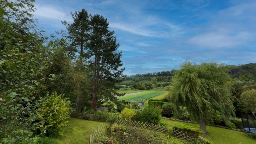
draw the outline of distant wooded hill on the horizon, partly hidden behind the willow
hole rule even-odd
[[[241,76],[245,76],[247,80],[256,80],[256,63],[249,63],[238,66],[227,65],[227,67],[229,69],[228,74],[230,74],[232,78],[239,78]],[[127,76],[124,77],[124,80],[122,83],[120,83],[120,85],[131,85],[131,83],[134,82],[150,82],[152,78],[156,78],[158,82],[170,82],[170,80],[174,76],[175,71],[176,70],[173,69],[171,71],[153,72]]]

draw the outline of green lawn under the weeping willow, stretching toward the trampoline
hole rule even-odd
[[[161,122],[165,124],[182,123],[190,126],[199,127],[199,124],[177,122],[167,119],[161,119]],[[214,144],[256,144],[256,135],[253,135],[253,139],[250,139],[245,135],[244,132],[234,131],[226,128],[218,128],[213,126],[206,126],[206,129],[209,132],[209,134],[201,136],[212,141]]]

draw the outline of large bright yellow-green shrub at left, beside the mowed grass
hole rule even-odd
[[[63,135],[67,126],[71,103],[64,95],[53,92],[50,96],[41,97],[42,103],[38,106],[37,115],[41,119],[40,131],[43,135]]]

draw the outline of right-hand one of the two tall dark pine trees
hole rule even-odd
[[[92,105],[96,108],[97,100],[108,100],[114,97],[113,89],[116,78],[122,75],[125,68],[118,69],[123,65],[122,52],[117,52],[119,43],[116,43],[114,31],[108,30],[107,19],[100,15],[91,17],[90,42],[87,53],[90,57],[89,67],[92,71]]]

